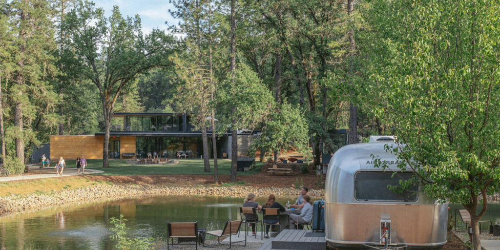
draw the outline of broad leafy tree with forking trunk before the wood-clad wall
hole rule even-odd
[[[117,6],[106,18],[102,8],[80,1],[62,21],[64,43],[71,49],[72,67],[98,89],[104,118],[102,166],[108,167],[109,127],[117,98],[136,77],[151,68],[170,66],[166,60],[174,38],[153,29],[143,35],[140,18],[123,17]]]

